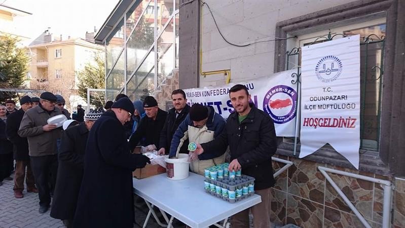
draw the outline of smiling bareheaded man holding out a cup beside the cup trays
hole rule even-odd
[[[235,112],[228,120],[223,133],[213,141],[198,144],[198,155],[204,150],[225,149],[231,151],[229,170],[240,170],[255,178],[254,190],[262,197],[262,203],[251,207],[255,228],[268,228],[270,224],[270,187],[274,185],[271,157],[277,150],[277,138],[272,119],[262,110],[249,104],[250,95],[243,85],[230,89]],[[232,216],[232,228],[249,227],[249,209]]]

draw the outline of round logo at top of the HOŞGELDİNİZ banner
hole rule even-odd
[[[342,73],[342,62],[333,55],[321,58],[315,67],[315,74],[319,81],[330,83],[337,80]]]

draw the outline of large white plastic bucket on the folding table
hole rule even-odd
[[[167,178],[181,180],[189,177],[189,155],[178,154],[178,159],[165,158]]]

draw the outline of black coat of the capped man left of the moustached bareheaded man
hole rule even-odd
[[[129,148],[131,151],[141,142],[142,146],[154,144],[156,148],[159,146],[160,133],[165,125],[167,112],[160,109],[156,116],[156,120],[145,116],[140,120],[139,126],[135,133],[129,139]]]

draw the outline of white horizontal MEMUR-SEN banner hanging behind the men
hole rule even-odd
[[[225,119],[234,112],[229,89],[236,85],[245,85],[254,105],[268,113],[273,119],[277,136],[294,136],[297,115],[297,85],[291,83],[291,74],[297,70],[287,70],[251,80],[249,82],[231,83],[218,87],[186,89],[189,105],[201,103],[213,106],[215,111]]]

